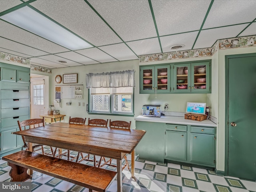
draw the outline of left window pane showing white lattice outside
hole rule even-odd
[[[109,97],[110,95],[92,95],[92,111],[110,112]]]

